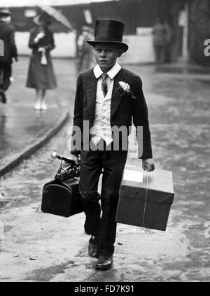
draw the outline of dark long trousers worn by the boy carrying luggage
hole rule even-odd
[[[116,151],[113,147],[111,150],[81,151],[79,190],[86,215],[85,232],[99,237],[99,255],[114,252],[116,211],[126,159],[127,150]],[[102,192],[99,195],[102,169]]]

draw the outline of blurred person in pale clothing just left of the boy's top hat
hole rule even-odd
[[[82,33],[78,36],[78,72],[85,71],[90,68],[93,59],[92,48],[87,44],[87,40],[92,39],[92,31],[90,27],[83,26]]]

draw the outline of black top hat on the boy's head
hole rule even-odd
[[[128,45],[122,42],[124,27],[125,24],[118,22],[118,20],[98,19],[95,22],[94,40],[87,40],[87,43],[90,45],[96,43],[116,44],[125,52],[128,50]]]

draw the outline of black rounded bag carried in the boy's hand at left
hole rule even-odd
[[[55,179],[43,186],[41,211],[57,216],[70,217],[83,212],[80,193],[78,190],[79,164],[73,160],[55,155],[52,158],[61,160]],[[63,166],[63,160],[69,163]]]

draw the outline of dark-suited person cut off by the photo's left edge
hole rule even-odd
[[[0,55],[0,101],[6,104],[6,90],[11,83],[13,58],[18,61],[15,45],[15,28],[10,24],[10,10],[0,9],[0,39],[3,41],[3,55]]]

